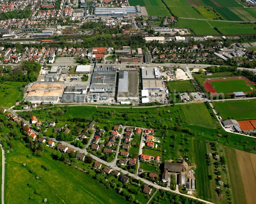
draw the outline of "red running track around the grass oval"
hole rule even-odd
[[[214,86],[212,85],[212,81],[232,81],[232,80],[243,80],[245,81],[246,85],[248,87],[251,88],[251,90],[253,91],[253,88],[251,87],[251,84],[253,84],[254,86],[256,86],[256,83],[248,80],[247,78],[232,78],[232,79],[206,79],[206,81],[203,83],[203,86],[205,87],[205,90],[207,92],[210,92],[212,93],[213,95],[216,95],[217,94],[217,91],[215,90]],[[235,92],[236,90],[234,90]],[[247,94],[249,92],[243,92],[244,94]],[[233,94],[233,93],[228,93],[228,94]]]

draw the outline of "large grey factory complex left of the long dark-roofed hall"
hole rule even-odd
[[[88,94],[88,102],[114,98],[116,67],[94,68]]]

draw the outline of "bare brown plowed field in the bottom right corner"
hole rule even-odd
[[[256,195],[256,154],[236,150],[236,155],[247,203],[254,204]]]

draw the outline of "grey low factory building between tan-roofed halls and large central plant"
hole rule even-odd
[[[83,103],[87,97],[87,86],[67,86],[63,92],[62,103]]]

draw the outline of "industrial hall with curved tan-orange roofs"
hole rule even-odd
[[[32,103],[58,103],[64,82],[35,82],[29,89],[24,101]]]

